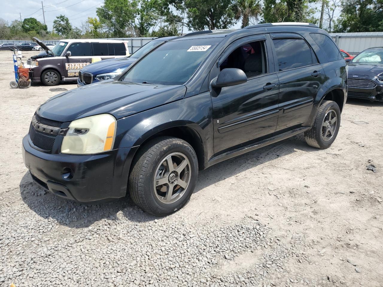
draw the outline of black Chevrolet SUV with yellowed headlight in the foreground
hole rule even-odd
[[[198,170],[304,132],[334,142],[346,63],[307,23],[165,41],[114,79],[54,96],[23,139],[32,178],[79,202],[126,196],[154,215],[185,205]]]

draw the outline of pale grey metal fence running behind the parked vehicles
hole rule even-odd
[[[364,33],[330,33],[331,37],[337,43],[340,49],[356,55],[364,49],[370,47],[383,47],[383,32],[364,32]],[[129,53],[136,52],[147,42],[152,41],[154,38],[106,38],[108,40],[122,40],[128,41]],[[17,40],[0,40],[1,43],[21,43],[32,41],[17,41]],[[43,41],[44,43],[57,44],[58,40]]]

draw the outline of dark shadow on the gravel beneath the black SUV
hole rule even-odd
[[[316,149],[309,147],[304,142],[303,135],[298,135],[218,163],[206,170],[200,171],[193,193],[200,192],[204,188],[225,178],[235,176],[255,166],[264,165],[268,161],[284,157],[297,150],[310,152]],[[230,166],[230,168],[226,168],[227,166]],[[25,204],[39,216],[46,219],[54,219],[59,224],[72,228],[89,227],[101,219],[147,222],[158,218],[144,213],[136,207],[129,196],[105,204],[95,205],[82,204],[57,197],[35,183],[29,172],[25,173],[20,181],[20,195]]]

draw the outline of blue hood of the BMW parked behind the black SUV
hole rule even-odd
[[[98,61],[83,67],[81,72],[89,72],[89,73],[92,73],[93,75],[110,73],[118,69],[125,69],[129,67],[135,60],[137,59],[130,58],[130,57],[102,60],[102,61]]]

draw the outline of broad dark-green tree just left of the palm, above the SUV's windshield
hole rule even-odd
[[[188,26],[195,30],[228,29],[234,23],[232,0],[185,0]]]

